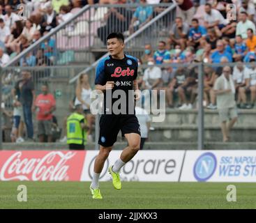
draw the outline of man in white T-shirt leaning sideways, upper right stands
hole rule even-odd
[[[221,15],[218,10],[211,8],[210,3],[205,4],[204,11],[204,26],[206,27],[206,29],[222,29],[225,24],[227,24],[223,15]]]

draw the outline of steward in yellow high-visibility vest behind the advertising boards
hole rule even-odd
[[[82,105],[76,105],[75,112],[67,119],[67,144],[73,150],[84,150],[87,141],[88,126],[83,112]]]

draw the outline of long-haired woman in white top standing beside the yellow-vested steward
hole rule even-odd
[[[91,114],[90,105],[91,105],[91,86],[89,84],[89,77],[86,74],[80,75],[77,79],[77,87],[75,89],[75,105],[82,104],[84,109],[84,116],[89,125],[89,130],[87,132],[87,141],[92,141],[91,132],[92,125],[95,121],[94,116]]]

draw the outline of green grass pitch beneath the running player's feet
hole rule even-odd
[[[27,185],[27,202],[17,201],[18,185]],[[102,200],[91,199],[89,182],[0,182],[0,208],[256,208],[255,183],[236,185],[236,202],[227,202],[231,183],[123,182],[114,190],[100,183]]]

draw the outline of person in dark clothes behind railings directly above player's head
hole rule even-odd
[[[121,4],[123,1],[121,0],[112,0],[113,4]],[[129,21],[131,17],[131,12],[126,9],[126,7],[118,7],[118,8],[109,8],[107,13],[104,15],[104,20],[106,21],[105,26],[101,26],[97,29],[98,37],[101,41],[106,45],[107,44],[107,36],[113,31],[123,32],[128,30]]]

